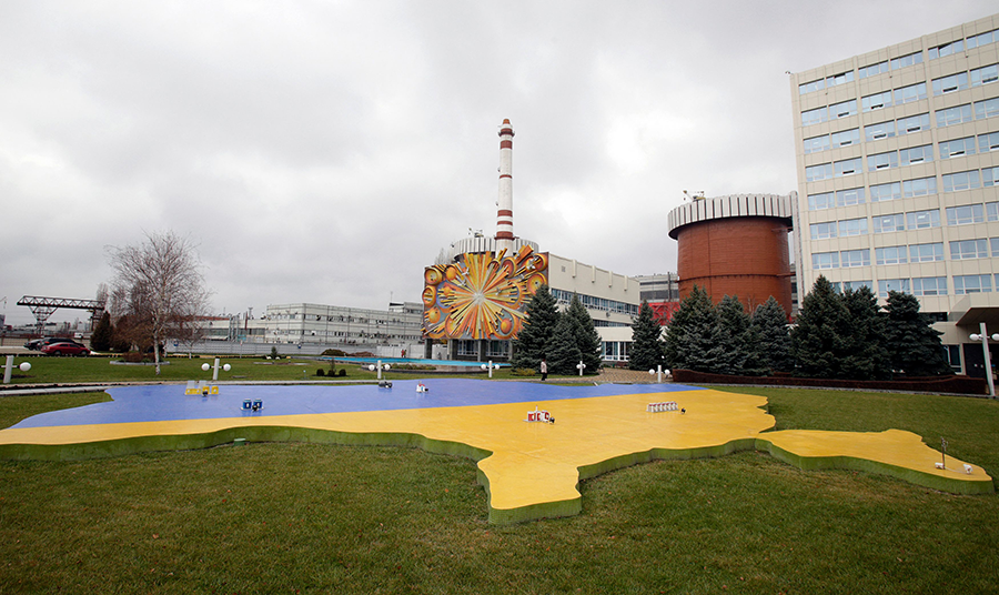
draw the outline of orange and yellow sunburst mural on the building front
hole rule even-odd
[[[431,339],[512,339],[531,296],[548,282],[548,254],[523,246],[462,254],[423,273],[423,329]]]

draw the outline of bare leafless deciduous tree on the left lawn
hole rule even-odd
[[[194,244],[171,231],[147,233],[145,241],[108,248],[114,269],[112,309],[128,316],[132,340],[151,341],[160,374],[160,347],[174,334],[183,335],[208,311],[201,261]]]

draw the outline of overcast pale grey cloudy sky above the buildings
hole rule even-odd
[[[946,8],[945,8],[946,7]],[[423,268],[514,233],[676,270],[683,191],[795,190],[800,72],[992,1],[0,3],[0,298],[92,299],[107,246],[172,230],[216,312],[418,301]],[[84,317],[60,310],[51,320]]]

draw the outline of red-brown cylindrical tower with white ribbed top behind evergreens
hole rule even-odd
[[[791,224],[791,196],[777,194],[696,199],[670,211],[680,299],[700,285],[715,303],[738,295],[751,313],[773,295],[790,316]]]

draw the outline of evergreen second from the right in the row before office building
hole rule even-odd
[[[841,376],[852,380],[890,380],[891,365],[885,349],[885,319],[878,298],[862,285],[847,290],[842,303],[849,312],[847,355],[842,359]]]

